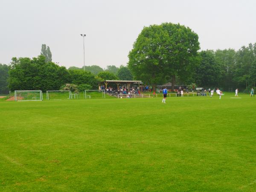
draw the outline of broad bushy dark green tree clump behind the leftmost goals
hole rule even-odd
[[[11,90],[59,90],[67,83],[69,73],[65,67],[55,63],[45,63],[45,57],[12,58],[9,70]]]

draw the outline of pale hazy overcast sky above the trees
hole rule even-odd
[[[0,63],[35,57],[41,44],[59,65],[125,65],[143,26],[189,26],[201,49],[256,42],[256,0],[0,0]]]

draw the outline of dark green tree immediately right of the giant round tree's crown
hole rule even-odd
[[[221,68],[215,60],[213,50],[201,51],[201,64],[196,68],[196,83],[202,87],[218,86]]]

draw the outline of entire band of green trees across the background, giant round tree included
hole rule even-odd
[[[256,81],[256,44],[234,49],[199,52],[198,35],[180,24],[162,23],[144,27],[129,52],[128,67],[97,65],[84,68],[59,67],[51,62],[49,47],[42,45],[37,58],[13,58],[9,66],[0,65],[0,92],[17,89],[59,89],[63,84],[85,84],[97,88],[99,81],[142,80],[156,85],[172,81],[196,83],[200,87],[245,88]],[[8,73],[9,70],[9,73]],[[7,79],[8,82],[7,82]]]

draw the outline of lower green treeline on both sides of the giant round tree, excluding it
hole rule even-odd
[[[196,83],[198,87],[220,87],[223,90],[255,85],[256,43],[243,46],[238,51],[201,51],[199,56],[198,65],[191,69],[189,75],[184,73],[182,76],[181,73],[182,77],[177,76],[177,84]],[[98,82],[106,79],[132,80],[133,74],[128,67],[114,65],[106,69],[92,65],[85,66],[85,71],[83,67],[67,70],[51,61],[46,62],[43,55],[32,59],[12,58],[9,65],[0,64],[0,94],[9,93],[9,90],[59,90],[66,83],[86,84],[96,89]]]

